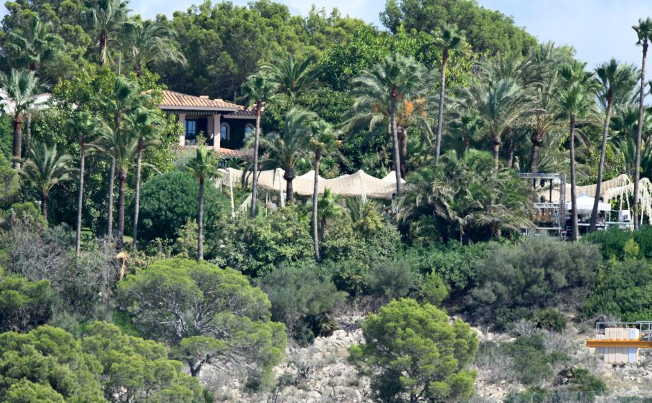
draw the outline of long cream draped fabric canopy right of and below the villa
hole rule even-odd
[[[230,176],[234,182],[241,181],[244,175],[243,171],[233,168],[223,169],[223,173],[225,177]],[[271,171],[261,171],[258,176],[258,186],[261,189],[279,191],[282,194],[287,185],[286,180],[283,179],[284,173],[285,171],[280,168]],[[395,179],[389,178],[390,175],[386,178],[379,179],[364,171],[357,171],[351,175],[341,175],[332,179],[319,177],[318,191],[319,194],[323,194],[325,189],[329,189],[333,194],[341,196],[390,200],[396,191]],[[314,178],[314,171],[309,171],[294,178],[292,181],[294,192],[301,196],[312,196],[315,185]],[[250,183],[251,175],[246,175],[245,180],[247,183]]]

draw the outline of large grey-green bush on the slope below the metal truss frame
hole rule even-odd
[[[470,308],[479,320],[504,328],[534,309],[580,303],[594,284],[601,259],[597,246],[531,238],[518,246],[494,246],[477,261]]]

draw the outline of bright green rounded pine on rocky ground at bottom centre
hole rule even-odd
[[[394,300],[362,324],[365,344],[350,359],[372,377],[375,400],[455,402],[473,394],[466,369],[478,348],[475,332],[433,305]]]

